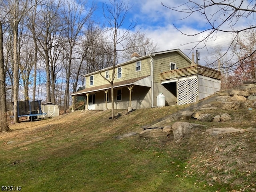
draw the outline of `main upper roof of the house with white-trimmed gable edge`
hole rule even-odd
[[[172,49],[172,50],[166,50],[166,51],[160,51],[160,52],[153,52],[153,53],[150,53],[148,55],[144,55],[144,56],[141,56],[141,57],[138,57],[138,58],[135,58],[135,59],[128,60],[126,62],[123,62],[123,63],[120,63],[120,64],[116,65],[116,68],[118,68],[120,66],[123,66],[123,65],[126,65],[126,64],[129,64],[129,63],[133,63],[133,62],[145,59],[145,58],[151,58],[151,57],[154,57],[156,55],[165,54],[165,53],[171,53],[171,52],[177,52],[178,54],[180,54],[180,56],[182,56],[189,63],[192,63],[192,60],[188,56],[186,56],[180,49]],[[104,72],[106,70],[111,70],[111,69],[113,69],[113,66],[104,68],[104,69],[100,70],[100,72]],[[85,74],[84,77],[91,76],[91,75],[97,74],[97,73],[99,73],[99,71],[94,71],[94,72]]]

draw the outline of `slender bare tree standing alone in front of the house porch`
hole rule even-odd
[[[126,21],[126,16],[130,7],[128,3],[124,1],[118,0],[110,0],[109,4],[105,3],[103,6],[104,17],[107,22],[107,32],[108,34],[106,38],[106,46],[108,54],[112,59],[112,75],[110,75],[109,79],[106,79],[104,75],[100,75],[107,82],[110,83],[111,86],[111,110],[112,110],[112,119],[114,118],[114,79],[116,77],[116,68],[118,67],[118,57],[120,57],[120,53],[124,51],[124,42],[129,34],[130,30],[136,26],[133,22],[130,23],[128,28],[122,30],[122,26],[124,26],[124,22]]]

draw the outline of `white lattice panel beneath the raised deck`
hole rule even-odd
[[[191,78],[177,82],[177,104],[184,105],[196,102],[198,98],[198,79]]]

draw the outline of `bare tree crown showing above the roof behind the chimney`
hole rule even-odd
[[[125,48],[122,58],[130,60],[131,55],[136,52],[140,56],[156,52],[157,44],[146,36],[146,33],[136,31],[128,34],[125,41]]]

